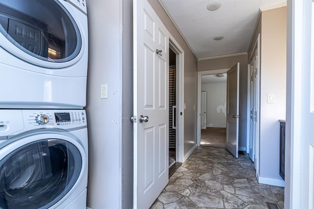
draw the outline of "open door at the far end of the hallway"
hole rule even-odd
[[[227,139],[226,148],[238,157],[240,63],[227,72]]]

